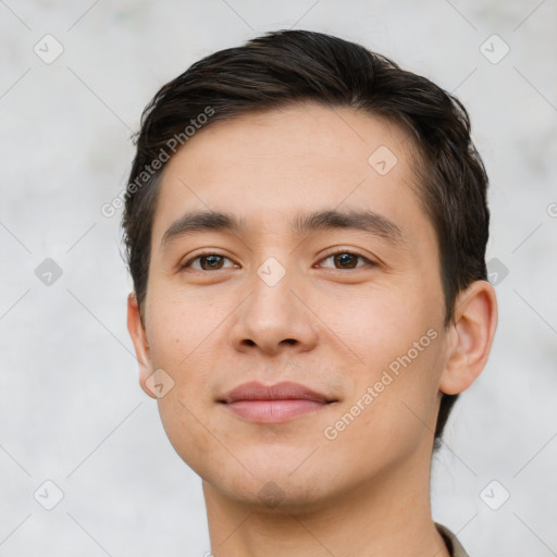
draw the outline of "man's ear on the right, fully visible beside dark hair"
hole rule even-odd
[[[449,325],[449,346],[440,389],[447,395],[466,391],[487,362],[495,329],[497,298],[487,281],[475,281],[462,290]]]

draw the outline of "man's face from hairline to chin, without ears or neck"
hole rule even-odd
[[[447,336],[412,164],[398,127],[314,104],[212,124],[168,163],[141,383],[172,377],[164,429],[211,488],[295,508],[429,467]],[[193,212],[239,227],[165,236]]]

